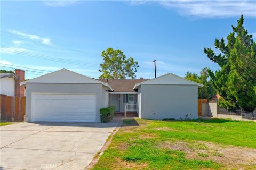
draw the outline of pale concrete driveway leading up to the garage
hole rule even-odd
[[[0,169],[84,169],[118,123],[2,126]]]

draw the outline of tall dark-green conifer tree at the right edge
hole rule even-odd
[[[208,70],[211,82],[221,96],[219,105],[234,110],[242,108],[252,112],[256,107],[256,44],[252,35],[243,27],[244,18],[237,20],[237,26],[227,36],[227,44],[221,38],[215,39],[215,55],[211,48],[204,48],[207,57],[220,66],[215,71]]]

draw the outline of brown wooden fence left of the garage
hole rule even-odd
[[[0,95],[1,121],[22,121],[25,107],[26,97]]]

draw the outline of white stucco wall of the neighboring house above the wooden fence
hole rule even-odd
[[[0,94],[14,96],[15,95],[15,80],[11,78],[0,79]]]

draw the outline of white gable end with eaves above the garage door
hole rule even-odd
[[[98,81],[92,78],[89,78],[83,74],[79,74],[67,69],[61,69],[54,71],[42,76],[39,76],[28,81],[21,82],[20,85],[26,83],[86,83],[86,84],[103,84],[104,86],[109,87],[110,90],[113,90],[108,83]]]

